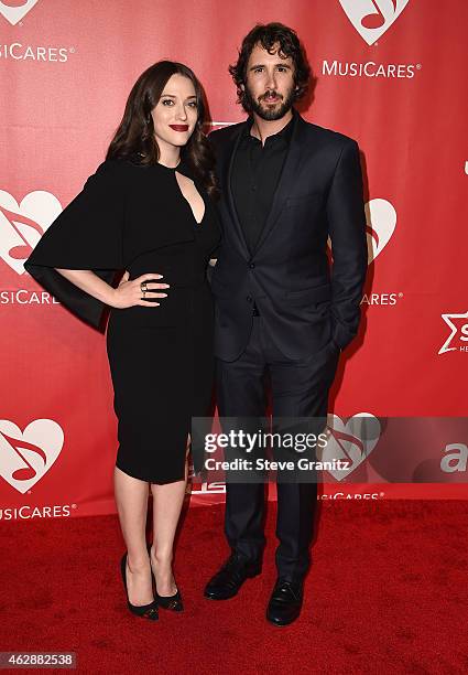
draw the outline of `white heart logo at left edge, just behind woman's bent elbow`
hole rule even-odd
[[[30,192],[21,204],[0,190],[0,258],[18,275],[47,227],[62,212],[56,196],[43,190]]]

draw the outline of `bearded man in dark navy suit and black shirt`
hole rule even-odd
[[[293,108],[309,78],[293,30],[257,25],[230,73],[249,119],[209,137],[222,193],[211,280],[219,415],[264,416],[268,375],[273,418],[325,419],[340,350],[358,330],[367,270],[359,149]],[[277,580],[266,609],[276,625],[301,612],[316,494],[316,482],[277,483]],[[207,598],[231,598],[260,574],[263,515],[263,484],[227,484],[232,553]]]

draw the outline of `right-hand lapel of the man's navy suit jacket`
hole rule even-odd
[[[294,183],[297,181],[297,173],[301,167],[301,161],[304,151],[304,142],[302,140],[302,130],[304,125],[305,121],[302,119],[300,114],[294,110],[294,121],[290,147],[287,149],[284,165],[281,171],[280,181],[277,183],[276,190],[274,191],[270,213],[266,217],[262,234],[260,235],[260,238],[255,246],[255,250],[253,253],[257,253],[257,250],[264,244],[266,237],[275,226],[280,214],[283,211],[286,199],[291,194]]]

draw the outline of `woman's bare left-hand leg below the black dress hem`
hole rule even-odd
[[[149,604],[154,600],[150,558],[146,548],[146,515],[149,488],[145,481],[113,472],[116,504],[120,527],[127,544],[127,586],[132,604]]]

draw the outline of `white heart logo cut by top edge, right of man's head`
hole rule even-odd
[[[360,36],[371,45],[387,33],[410,0],[339,0]]]

